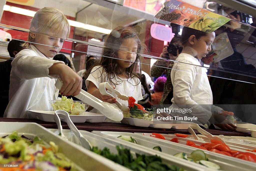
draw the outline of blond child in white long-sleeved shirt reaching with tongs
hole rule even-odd
[[[55,100],[59,90],[55,87],[60,77],[63,95],[77,95],[82,78],[63,61],[52,58],[62,48],[70,32],[66,16],[56,8],[38,10],[30,25],[27,49],[20,51],[12,62],[9,104],[4,117],[24,118],[26,111],[52,110],[48,100]]]

